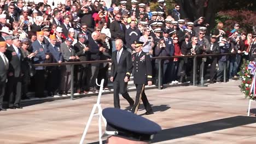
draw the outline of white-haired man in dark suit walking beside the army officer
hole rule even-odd
[[[127,82],[132,71],[131,53],[124,50],[123,41],[115,40],[117,50],[112,55],[111,77],[110,81],[114,82],[114,107],[120,109],[119,93],[129,102],[132,107],[134,101],[127,93]]]

